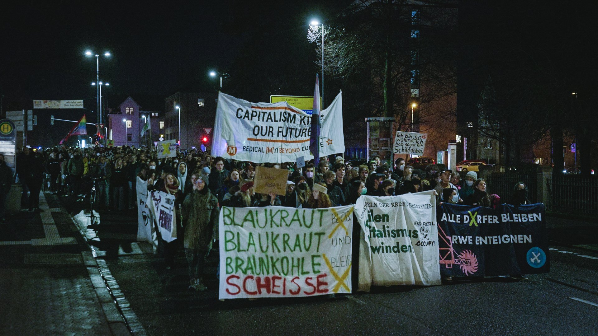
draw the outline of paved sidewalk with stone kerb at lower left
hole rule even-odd
[[[0,228],[0,335],[130,335],[89,245],[51,194]]]

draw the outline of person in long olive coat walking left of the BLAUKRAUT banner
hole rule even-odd
[[[213,237],[218,235],[218,200],[210,192],[208,181],[197,178],[193,191],[185,197],[181,207],[185,224],[184,248],[189,267],[189,289],[205,291],[203,266],[212,249]]]

